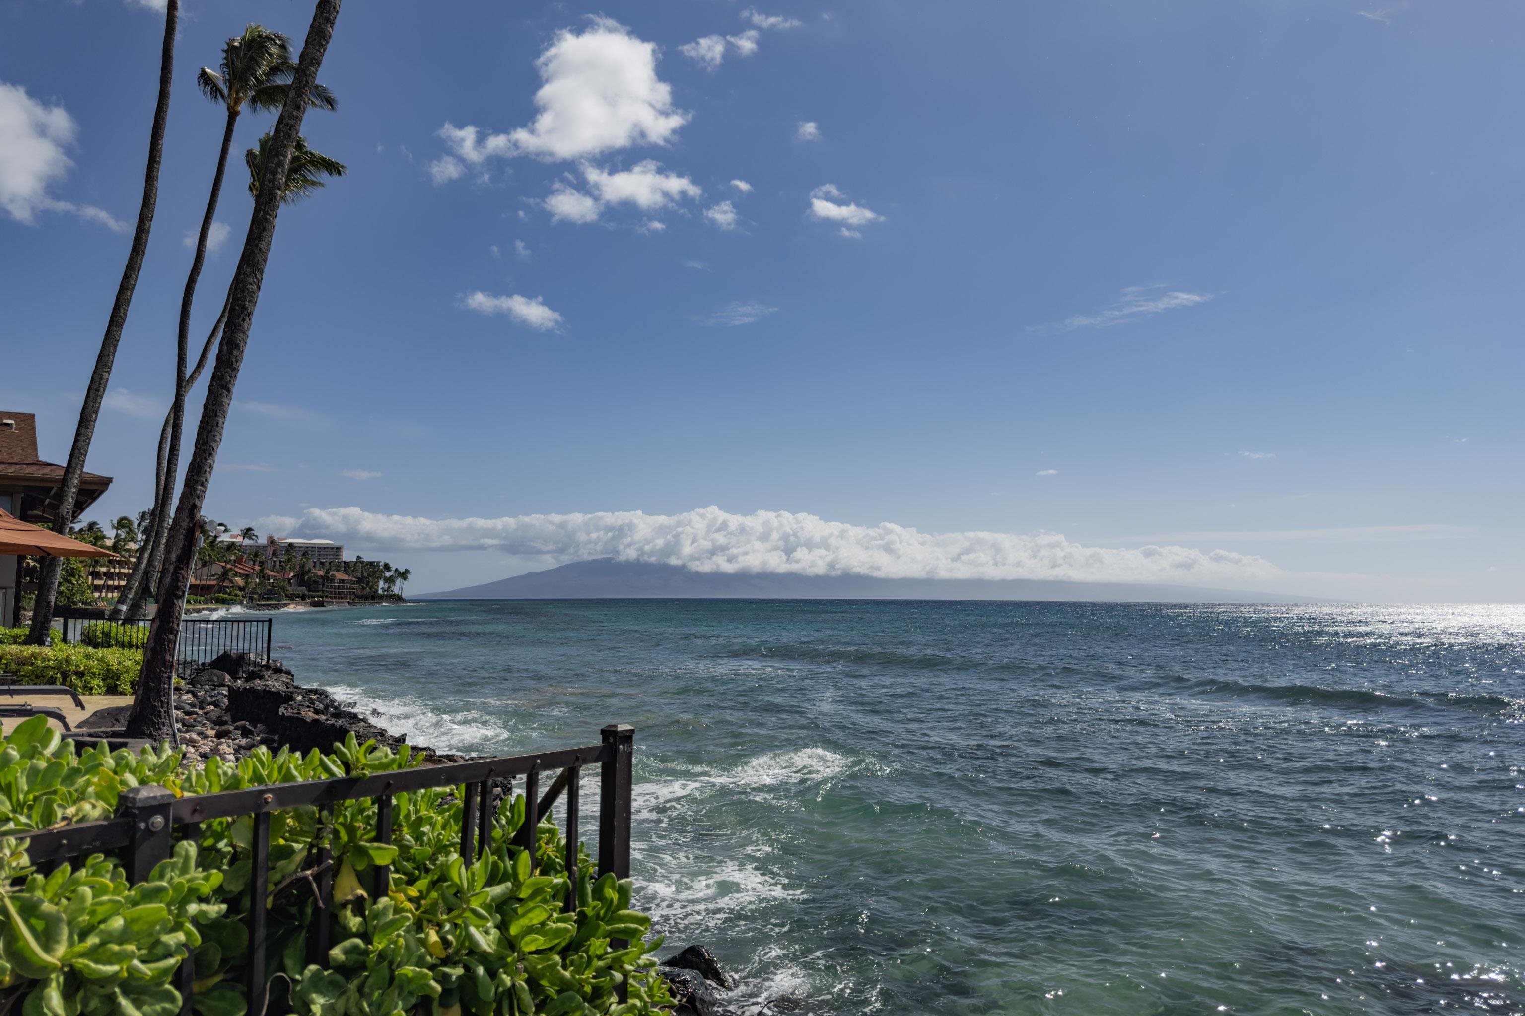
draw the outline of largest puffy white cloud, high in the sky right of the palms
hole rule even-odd
[[[538,113],[529,126],[493,134],[445,123],[439,136],[448,158],[480,165],[494,157],[534,155],[554,161],[666,145],[688,123],[688,113],[673,105],[673,87],[657,78],[656,44],[610,18],[589,21],[583,32],[558,32],[535,61],[541,85],[535,93]],[[448,166],[442,174],[433,166],[430,172],[436,183],[461,175]]]

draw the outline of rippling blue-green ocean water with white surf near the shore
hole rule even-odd
[[[518,752],[636,727],[636,877],[811,1013],[1525,1010],[1525,608],[476,602],[282,614]]]

